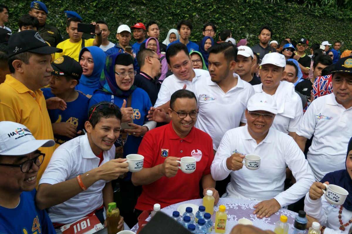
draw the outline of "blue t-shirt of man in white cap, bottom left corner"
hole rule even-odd
[[[35,205],[37,190],[22,192],[17,207],[0,206],[0,234],[56,234],[45,210]]]

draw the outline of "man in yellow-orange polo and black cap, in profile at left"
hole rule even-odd
[[[0,121],[21,123],[38,140],[54,139],[45,98],[40,88],[48,85],[51,77],[51,54],[61,51],[46,44],[34,30],[11,35],[8,41],[11,75],[6,75],[5,82],[0,85]],[[59,103],[56,104],[60,105]],[[46,156],[38,171],[37,182],[50,161],[54,147],[39,150]]]

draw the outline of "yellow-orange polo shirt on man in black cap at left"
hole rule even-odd
[[[0,85],[0,121],[23,124],[37,140],[54,140],[43,92],[40,89],[31,91],[11,75],[6,75],[5,82]],[[55,147],[41,147],[39,150],[45,153],[45,158],[38,171],[37,185]]]

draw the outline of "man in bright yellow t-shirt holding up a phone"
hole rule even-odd
[[[66,32],[70,36],[70,39],[60,42],[56,47],[62,49],[62,52],[55,54],[55,59],[67,55],[75,59],[78,62],[78,56],[83,47],[87,46],[100,46],[103,38],[101,36],[101,29],[98,24],[92,22],[92,25],[95,25],[95,39],[82,39],[82,32],[78,32],[78,24],[81,23],[80,19],[71,18],[67,20]]]

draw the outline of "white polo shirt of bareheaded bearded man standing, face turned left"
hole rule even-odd
[[[199,114],[195,127],[208,133],[213,139],[213,149],[219,147],[222,136],[227,130],[247,123],[245,110],[248,99],[254,94],[252,85],[241,80],[237,74],[237,85],[224,93],[210,76],[193,84]]]

